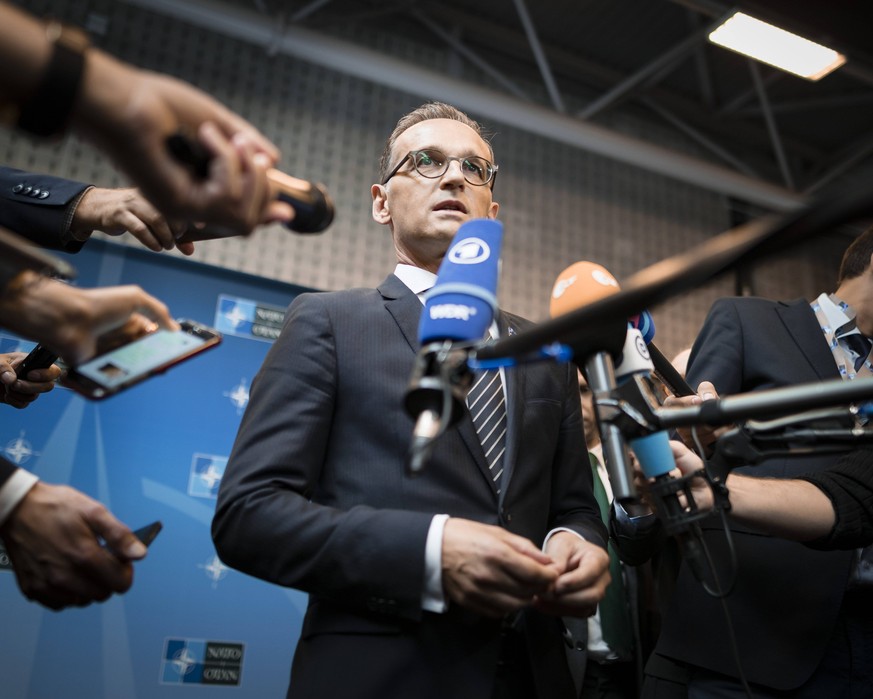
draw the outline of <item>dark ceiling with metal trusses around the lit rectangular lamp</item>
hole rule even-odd
[[[440,95],[454,80],[456,96],[449,94],[462,108],[491,116],[491,105],[492,114],[522,127],[763,208],[792,208],[873,176],[873,17],[867,0],[737,4],[848,57],[843,68],[816,83],[709,44],[707,29],[735,7],[712,0],[128,2],[166,5],[165,11],[242,12],[252,24],[290,37],[281,44],[289,53],[350,72],[368,63],[361,75],[397,87],[430,80],[427,89]],[[236,25],[242,19],[238,15]],[[416,66],[407,54],[391,56],[396,42],[378,40],[385,36],[448,50],[460,66],[458,77],[421,66],[404,82],[397,76]],[[343,43],[328,44],[331,50],[319,54],[307,43],[319,37]],[[275,37],[265,40],[275,48]],[[375,65],[337,50],[354,46],[376,50],[389,62]],[[476,85],[467,77],[471,72]],[[477,93],[478,101],[472,96]],[[630,133],[626,125],[640,119],[660,128]],[[646,141],[646,133],[664,129],[681,137],[659,139],[671,146]]]

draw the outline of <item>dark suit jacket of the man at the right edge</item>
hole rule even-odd
[[[722,396],[839,378],[809,303],[758,298],[715,303],[695,342],[688,382],[709,380]],[[785,458],[738,469],[748,475],[795,477],[837,457]],[[708,545],[726,575],[728,556],[719,525],[705,527]],[[743,669],[750,682],[791,689],[815,671],[836,623],[853,554],[732,527],[738,577],[727,606]],[[677,581],[656,653],[736,675],[724,615],[687,568]]]

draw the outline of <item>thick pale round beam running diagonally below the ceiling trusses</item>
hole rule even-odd
[[[124,1],[255,45],[265,46],[276,40],[275,27],[268,18],[217,0]],[[805,201],[784,187],[580,122],[480,85],[447,78],[348,41],[292,26],[276,43],[286,55],[425,99],[445,100],[496,122],[768,209],[794,209]]]

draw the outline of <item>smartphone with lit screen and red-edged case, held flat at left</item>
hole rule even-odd
[[[214,328],[193,320],[177,322],[179,330],[156,330],[71,367],[61,385],[92,400],[108,398],[221,342]]]

